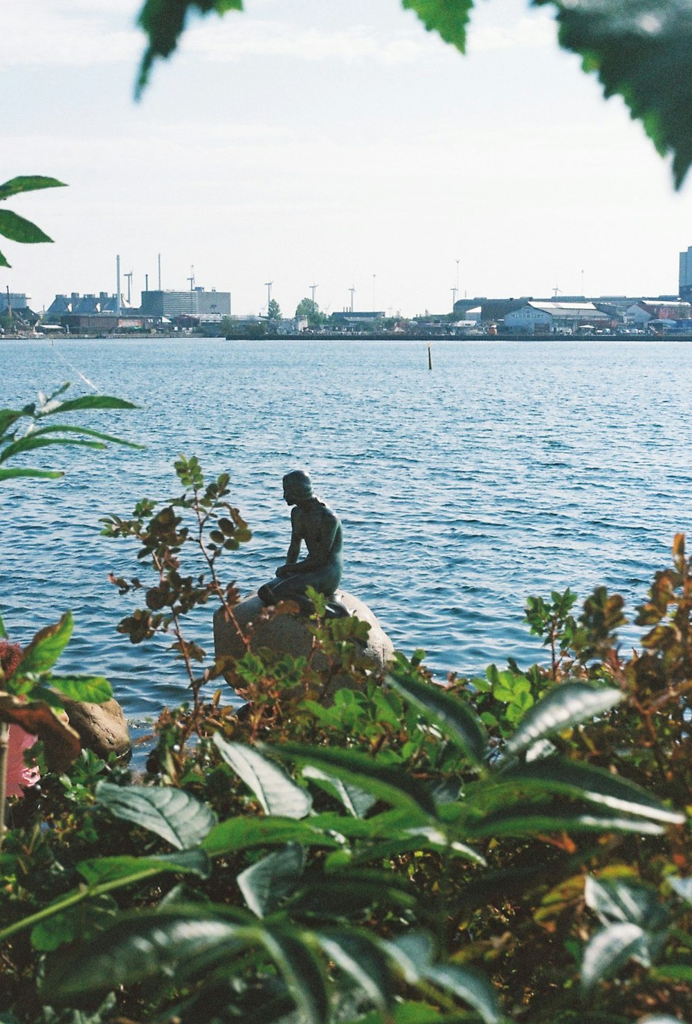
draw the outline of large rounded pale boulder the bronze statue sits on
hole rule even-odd
[[[370,626],[367,644],[358,644],[360,652],[363,656],[373,658],[380,668],[384,668],[393,657],[394,645],[367,605],[344,590],[338,590],[333,600],[343,604],[355,618],[367,623]],[[277,654],[307,657],[311,650],[312,634],[307,628],[305,616],[285,614],[262,620],[263,608],[264,605],[256,594],[241,601],[233,608],[233,615],[243,632],[248,630],[251,623],[254,625],[251,649],[259,650],[261,647],[266,647]],[[232,623],[225,621],[223,608],[214,613],[214,652],[217,658],[243,657],[246,652],[237,630]],[[325,655],[320,651],[317,651],[312,664],[317,672],[327,668]],[[330,681],[325,693],[328,702],[336,690],[344,686],[353,688],[353,680],[347,673],[339,673]]]

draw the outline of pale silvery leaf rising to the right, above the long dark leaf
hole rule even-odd
[[[621,699],[619,690],[596,689],[587,683],[561,683],[526,712],[505,748],[505,759],[520,754],[538,739],[610,711]]]

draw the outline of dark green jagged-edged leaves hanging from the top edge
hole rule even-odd
[[[401,0],[430,32],[466,49],[473,0]],[[687,0],[533,0],[555,10],[560,45],[581,57],[606,97],[619,95],[661,155],[673,154],[680,187],[692,163],[692,10]],[[243,10],[243,0],[145,0],[138,23],[147,46],[137,80],[174,52],[190,14]]]

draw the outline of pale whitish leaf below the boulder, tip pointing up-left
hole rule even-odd
[[[284,769],[244,743],[231,743],[214,734],[221,757],[252,790],[265,814],[285,818],[304,818],[310,812],[310,795],[289,778]]]

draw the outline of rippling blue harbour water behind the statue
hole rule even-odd
[[[135,605],[107,572],[143,572],[98,522],[179,493],[180,453],[230,473],[254,530],[227,563],[243,593],[284,559],[283,474],[309,469],[342,517],[344,588],[440,676],[540,659],[522,625],[528,594],[569,585],[583,597],[604,583],[630,607],[641,600],[689,527],[692,347],[449,341],[433,344],[433,364],[421,342],[0,343],[0,406],[66,380],[71,394],[90,392],[86,378],[141,408],[83,422],[147,445],[48,449],[26,464],[64,468],[61,481],[0,484],[12,638],[26,643],[72,608],[58,668],[105,674],[130,719],[184,698],[165,645],[116,632]],[[192,632],[211,650],[211,614]]]

